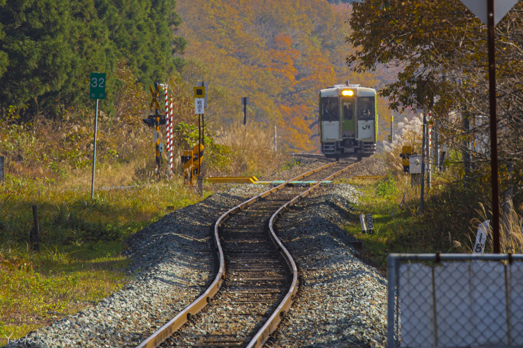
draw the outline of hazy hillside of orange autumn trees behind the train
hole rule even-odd
[[[176,34],[188,42],[184,56],[204,67],[192,77],[211,81],[210,93],[218,88],[235,106],[211,114],[214,123],[240,122],[240,97],[248,95],[248,122],[277,126],[279,147],[317,150],[317,127],[310,126],[319,90],[346,80],[380,85],[378,74],[346,66],[350,9],[323,0],[179,0],[183,23]],[[378,112],[388,114],[383,99]],[[380,125],[388,129],[384,119]]]

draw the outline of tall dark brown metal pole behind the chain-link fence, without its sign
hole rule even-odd
[[[497,120],[496,120],[496,60],[494,52],[494,0],[487,0],[488,23],[488,89],[490,97],[491,171],[492,171],[492,234],[494,254],[501,252],[499,244],[499,188],[497,175]]]

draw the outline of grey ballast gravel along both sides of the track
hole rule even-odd
[[[309,162],[285,174],[290,178],[303,172],[304,166],[313,169],[322,164]],[[265,189],[261,185],[232,188],[137,232],[129,240],[132,280],[126,289],[28,334],[22,343],[7,346],[138,345],[212,281],[215,257],[211,230],[215,220]],[[386,282],[357,258],[354,246],[359,242],[340,227],[354,220],[351,211],[359,195],[351,185],[321,187],[277,221],[277,233],[303,269],[306,283],[304,294],[290,310],[290,323],[279,328],[281,336],[274,346],[385,345]],[[31,339],[37,343],[29,343]]]

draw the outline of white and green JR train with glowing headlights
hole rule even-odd
[[[320,91],[322,152],[328,158],[369,157],[378,136],[376,90],[339,86]]]

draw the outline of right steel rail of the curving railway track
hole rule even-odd
[[[358,162],[356,162],[358,163]],[[283,298],[283,300],[280,302],[278,307],[272,312],[272,315],[267,319],[265,322],[265,325],[261,327],[261,329],[258,330],[258,332],[254,335],[253,339],[247,344],[246,348],[261,348],[267,339],[269,338],[269,335],[276,330],[278,327],[280,321],[281,321],[281,314],[282,312],[288,310],[292,303],[294,302],[294,294],[298,292],[298,268],[296,267],[296,263],[294,262],[294,259],[292,258],[291,254],[289,253],[289,250],[285,246],[283,246],[283,243],[281,243],[280,239],[276,235],[276,232],[274,231],[274,222],[278,218],[278,215],[285,209],[291,207],[294,205],[295,202],[298,201],[298,199],[303,198],[307,195],[309,195],[312,191],[314,191],[316,188],[320,187],[322,181],[328,181],[332,180],[336,176],[345,173],[350,169],[350,167],[356,165],[356,163],[350,164],[346,166],[344,169],[329,175],[323,180],[320,180],[317,182],[314,186],[309,188],[306,191],[303,191],[298,196],[294,197],[285,205],[281,206],[272,216],[269,220],[269,231],[270,231],[270,237],[272,238],[272,241],[278,246],[278,249],[283,254],[283,257],[287,260],[287,263],[292,270],[292,284],[287,292],[287,295]]]

